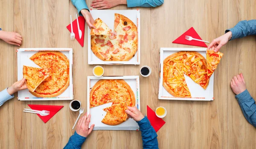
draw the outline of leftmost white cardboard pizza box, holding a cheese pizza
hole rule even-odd
[[[29,58],[39,51],[60,51],[62,52],[70,62],[70,85],[67,89],[57,97],[41,98],[35,97],[29,90],[20,90],[18,91],[18,100],[21,101],[40,101],[40,100],[73,100],[73,49],[72,48],[20,48],[17,50],[17,71],[18,71],[18,80],[23,78],[23,65],[38,67],[32,60]]]

